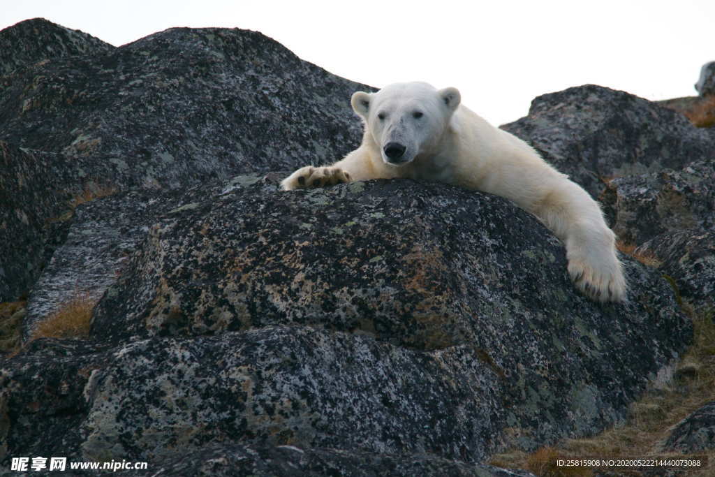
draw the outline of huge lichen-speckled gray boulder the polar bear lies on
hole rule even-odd
[[[626,303],[593,303],[499,197],[257,176],[213,193],[151,227],[95,309],[101,345],[5,363],[8,455],[235,442],[478,463],[611,426],[690,340],[658,274],[626,259]]]

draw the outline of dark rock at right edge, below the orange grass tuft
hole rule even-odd
[[[676,230],[666,232],[636,249],[654,255],[658,269],[675,280],[679,294],[696,308],[715,307],[715,232]]]

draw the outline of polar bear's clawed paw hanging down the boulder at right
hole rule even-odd
[[[568,275],[573,285],[591,300],[621,302],[626,297],[626,279],[615,255],[600,263],[581,257],[570,258]]]

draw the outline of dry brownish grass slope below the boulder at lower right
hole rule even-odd
[[[689,305],[684,311],[694,324],[694,344],[684,355],[669,388],[651,390],[631,405],[625,423],[598,436],[567,439],[554,447],[528,454],[511,451],[493,456],[490,463],[506,468],[527,468],[537,476],[591,475],[589,473],[558,473],[563,468],[553,466],[557,459],[567,458],[695,458],[706,456],[707,464],[691,468],[687,475],[715,476],[715,450],[697,453],[665,453],[661,450],[671,429],[681,420],[713,399],[715,389],[715,310],[694,313]],[[578,469],[582,470],[583,469]],[[682,469],[682,468],[680,468]],[[654,471],[653,468],[650,469]],[[607,468],[623,476],[640,476],[636,468]]]

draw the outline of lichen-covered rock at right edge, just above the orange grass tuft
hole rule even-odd
[[[612,180],[602,201],[612,211],[613,232],[629,244],[676,230],[714,230],[715,157]]]

